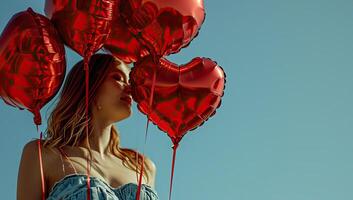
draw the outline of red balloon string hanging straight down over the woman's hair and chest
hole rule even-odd
[[[89,140],[88,140],[88,98],[89,98],[89,58],[90,54],[87,54],[84,56],[84,70],[85,70],[85,77],[86,77],[86,107],[85,107],[85,119],[86,119],[86,139],[88,141],[88,146],[89,146]],[[90,181],[90,158],[86,158],[87,161],[87,200],[91,199],[91,181]]]

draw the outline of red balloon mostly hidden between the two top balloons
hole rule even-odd
[[[141,57],[148,55],[147,49],[126,28],[118,6],[115,6],[112,29],[104,49],[125,63],[136,62]]]

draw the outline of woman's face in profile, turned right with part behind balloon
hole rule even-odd
[[[119,61],[118,61],[119,62]],[[98,89],[94,115],[114,123],[129,117],[132,113],[130,68],[124,62],[109,66],[108,74]]]

